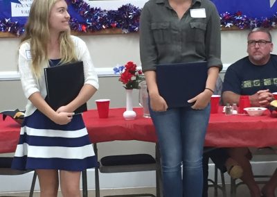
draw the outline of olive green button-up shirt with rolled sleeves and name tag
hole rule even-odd
[[[199,8],[204,8],[206,17],[191,16],[190,10]],[[159,64],[199,61],[221,70],[220,16],[215,5],[193,0],[179,19],[168,0],[148,1],[140,18],[140,51],[143,71],[155,70]]]

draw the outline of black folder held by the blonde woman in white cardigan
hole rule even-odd
[[[78,96],[84,85],[84,67],[82,62],[44,68],[46,81],[46,101],[57,110]],[[87,103],[75,110],[75,114],[87,111]]]

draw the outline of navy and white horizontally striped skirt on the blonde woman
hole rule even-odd
[[[13,169],[82,171],[98,164],[82,114],[58,125],[36,110],[24,118]]]

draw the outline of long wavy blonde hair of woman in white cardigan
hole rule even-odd
[[[30,42],[30,53],[32,55],[32,70],[35,76],[42,75],[44,63],[48,64],[47,44],[50,39],[48,19],[51,8],[57,1],[61,0],[33,0],[30,7],[25,32],[21,44]],[[60,33],[60,64],[77,60],[73,40],[70,37],[70,29]]]

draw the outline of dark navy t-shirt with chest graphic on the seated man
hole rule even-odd
[[[256,94],[260,89],[277,92],[277,55],[272,55],[266,65],[253,65],[248,56],[228,67],[222,92],[240,95]]]

